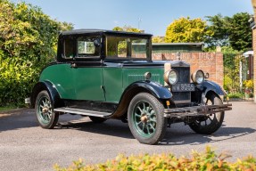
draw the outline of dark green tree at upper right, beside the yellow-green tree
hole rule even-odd
[[[222,17],[220,14],[208,16],[209,29],[213,35],[206,43],[209,46],[231,45],[238,51],[246,51],[252,48],[252,28],[249,19],[251,15],[247,12],[236,13],[232,17]]]

